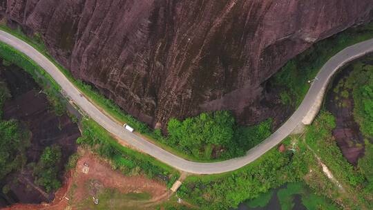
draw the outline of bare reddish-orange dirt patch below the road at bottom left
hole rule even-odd
[[[15,204],[5,210],[15,209],[77,209],[77,204],[90,199],[104,189],[116,189],[120,193],[149,193],[151,200],[144,203],[158,203],[169,196],[164,183],[149,180],[143,175],[128,177],[119,171],[113,171],[108,162],[84,149],[79,150],[79,158],[75,170],[70,171],[64,179],[64,186],[55,193],[50,204]],[[88,167],[88,173],[84,169]]]

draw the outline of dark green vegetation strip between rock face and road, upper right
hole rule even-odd
[[[298,106],[323,64],[347,46],[373,38],[373,22],[349,28],[328,39],[318,41],[311,48],[287,62],[271,79],[280,88],[283,104]],[[372,129],[373,131],[373,129]]]

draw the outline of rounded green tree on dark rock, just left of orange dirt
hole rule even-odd
[[[59,189],[59,165],[61,164],[61,147],[47,146],[34,167],[35,184],[42,186],[47,192]]]

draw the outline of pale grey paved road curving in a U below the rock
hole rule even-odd
[[[214,174],[214,173],[224,173],[228,171],[233,171],[240,169],[242,166],[253,162],[261,155],[272,149],[278,143],[280,143],[287,135],[289,135],[302,120],[312,112],[317,104],[317,99],[325,91],[329,79],[334,75],[338,68],[341,68],[344,64],[352,61],[358,57],[361,57],[367,53],[373,52],[373,39],[363,41],[354,46],[345,48],[338,54],[334,55],[327,63],[321,68],[317,75],[318,79],[315,79],[311,87],[308,90],[305,99],[300,104],[298,109],[294,112],[289,120],[283,124],[277,131],[275,131],[271,136],[269,136],[262,143],[255,146],[253,149],[247,151],[247,154],[240,158],[233,158],[231,160],[225,160],[222,162],[212,162],[212,163],[202,163],[202,162],[191,162],[184,160],[160,147],[148,142],[141,137],[130,133],[122,127],[122,125],[117,124],[114,120],[107,117],[99,111],[92,103],[86,99],[86,97],[81,97],[79,95],[79,90],[59,71],[59,69],[52,64],[52,62],[44,57],[39,51],[32,48],[29,44],[14,37],[7,32],[0,30],[0,41],[16,48],[22,53],[26,54],[32,60],[34,60],[39,66],[44,68],[50,76],[55,79],[55,81],[61,86],[61,88],[66,92],[70,99],[73,99],[75,104],[77,104],[82,110],[84,110],[95,122],[103,126],[108,132],[113,133],[119,137],[120,140],[130,144],[131,146],[148,153],[157,160],[173,166],[175,169],[181,171],[186,171],[189,173],[197,174]]]

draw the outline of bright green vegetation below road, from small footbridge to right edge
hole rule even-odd
[[[261,193],[287,182],[304,180],[316,193],[302,199],[308,209],[319,209],[326,203],[330,204],[330,207],[325,206],[326,209],[335,209],[324,196],[343,200],[345,207],[352,209],[372,209],[372,185],[368,180],[371,175],[370,161],[373,151],[367,152],[365,158],[361,159],[361,169],[354,168],[345,160],[331,135],[334,127],[334,117],[322,111],[314,123],[307,127],[305,135],[289,137],[283,142],[288,149],[294,150],[294,153],[289,150],[280,153],[277,149],[271,149],[258,160],[236,171],[220,175],[190,176],[180,187],[178,195],[202,209],[228,209],[237,207],[245,200],[258,198]],[[346,190],[345,193],[341,193],[339,187],[323,173],[314,153],[332,171],[336,180]],[[294,191],[295,189],[296,187]],[[305,195],[308,190],[299,189],[297,193],[299,192]],[[293,194],[289,193],[287,198],[290,199]],[[258,198],[253,205],[263,205],[267,199],[269,198]],[[284,201],[284,206],[289,207],[289,202]]]

